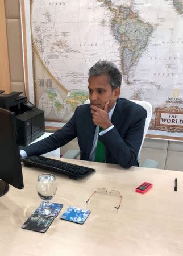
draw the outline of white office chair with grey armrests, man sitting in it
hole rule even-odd
[[[149,102],[147,102],[147,101],[136,101],[136,100],[131,100],[131,101],[135,102],[136,104],[139,104],[139,105],[143,106],[143,108],[147,111],[147,118],[145,120],[143,139],[142,139],[142,143],[141,143],[141,146],[140,146],[140,149],[139,149],[139,153],[138,153],[138,156],[137,156],[137,160],[139,162],[140,152],[142,150],[142,145],[144,143],[145,135],[147,134],[147,131],[148,131],[149,123],[151,122],[152,105]],[[89,104],[89,103],[90,103],[89,99],[84,102],[84,104]],[[76,159],[78,155],[80,155],[80,151],[79,150],[68,150],[63,155],[63,158]],[[155,160],[146,159],[144,161],[144,163],[140,165],[140,167],[157,168],[158,164],[159,163],[156,162]]]

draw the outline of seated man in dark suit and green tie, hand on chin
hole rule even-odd
[[[113,63],[98,61],[89,70],[90,104],[78,106],[61,129],[20,151],[22,157],[44,154],[77,137],[81,160],[115,163],[123,168],[139,166],[136,158],[147,112],[119,98],[121,82],[122,75]]]

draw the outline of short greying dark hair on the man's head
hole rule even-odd
[[[112,90],[117,87],[120,88],[122,82],[122,74],[117,66],[111,61],[98,61],[89,69],[88,75],[89,78],[90,76],[107,75],[109,77],[109,84],[111,85]]]

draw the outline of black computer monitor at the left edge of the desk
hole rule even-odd
[[[0,196],[13,187],[23,188],[22,166],[16,143],[15,113],[0,108]]]

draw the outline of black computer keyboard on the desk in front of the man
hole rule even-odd
[[[34,166],[59,172],[59,174],[68,175],[70,179],[74,180],[85,177],[91,174],[91,172],[95,171],[95,169],[89,167],[78,166],[77,164],[66,163],[61,160],[45,158],[44,156],[40,155],[27,156],[27,158],[22,158],[21,161],[25,164],[25,166]]]

